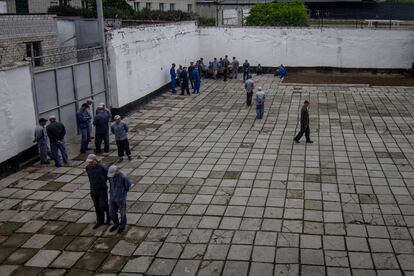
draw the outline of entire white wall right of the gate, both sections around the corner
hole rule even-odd
[[[171,63],[236,56],[251,65],[407,69],[413,30],[197,28],[194,22],[112,30],[108,35],[112,106],[122,107],[170,81]]]

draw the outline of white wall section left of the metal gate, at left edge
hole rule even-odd
[[[0,163],[33,145],[36,126],[29,66],[0,69]]]

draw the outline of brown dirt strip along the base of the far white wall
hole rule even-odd
[[[369,84],[371,86],[414,86],[414,77],[399,74],[369,73],[295,73],[288,74],[282,83],[303,84]]]

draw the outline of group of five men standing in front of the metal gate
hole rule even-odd
[[[92,112],[92,100],[83,103],[78,112],[76,112],[76,122],[81,135],[80,152],[86,153],[89,150],[89,143],[95,138],[95,153],[101,153],[102,143],[104,152],[109,152],[109,131],[115,136],[118,148],[119,162],[123,161],[124,155],[128,160],[132,159],[131,150],[128,141],[128,124],[124,122],[121,116],[114,117],[114,123],[109,127],[112,114],[105,104],[101,103],[96,108],[96,113]],[[91,133],[95,126],[95,137]],[[58,122],[54,115],[39,119],[39,125],[35,129],[33,142],[37,143],[40,163],[50,164],[48,157],[51,157],[56,167],[61,167],[61,159],[65,164],[69,162],[68,153],[65,146],[66,128],[63,123]],[[49,148],[50,145],[50,148]],[[60,154],[59,154],[60,152]]]

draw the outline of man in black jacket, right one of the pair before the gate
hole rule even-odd
[[[59,168],[62,166],[60,163],[59,151],[62,154],[62,159],[65,164],[67,164],[69,160],[64,141],[66,129],[62,123],[56,121],[54,115],[49,117],[49,122],[50,124],[46,127],[46,132],[49,137],[50,152],[55,161],[55,166]]]

